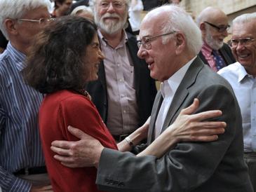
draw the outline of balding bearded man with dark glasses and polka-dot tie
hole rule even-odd
[[[207,7],[198,15],[197,23],[203,38],[203,46],[199,53],[201,60],[213,71],[219,71],[222,67],[236,62],[231,49],[224,43],[229,29],[227,15],[224,12],[219,8]]]

